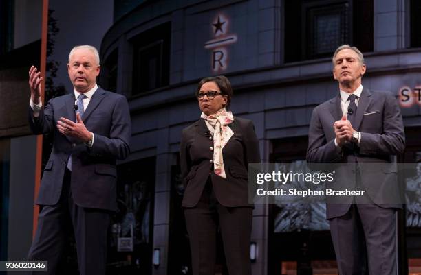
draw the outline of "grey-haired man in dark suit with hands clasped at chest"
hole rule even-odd
[[[338,95],[313,110],[307,161],[349,163],[352,169],[343,169],[336,181],[367,193],[327,204],[339,274],[396,275],[396,212],[402,205],[395,198],[393,155],[405,147],[400,108],[391,93],[363,87],[366,67],[356,47],[338,47],[332,62]]]

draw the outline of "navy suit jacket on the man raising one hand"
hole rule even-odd
[[[116,159],[129,152],[131,122],[127,99],[98,87],[82,120],[95,135],[89,148],[64,136],[56,127],[65,117],[75,121],[74,93],[51,99],[39,117],[29,108],[29,123],[34,134],[53,134],[50,159],[45,165],[36,204],[54,205],[61,194],[67,159],[72,154],[72,195],[82,207],[116,210]]]

